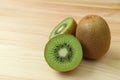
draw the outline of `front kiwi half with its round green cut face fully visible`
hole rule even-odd
[[[80,64],[82,55],[81,44],[70,34],[61,34],[50,39],[44,51],[48,65],[59,72],[75,69]]]

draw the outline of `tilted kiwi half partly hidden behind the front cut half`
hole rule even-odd
[[[50,33],[49,38],[53,38],[59,34],[72,34],[76,32],[76,22],[72,17],[65,18]]]

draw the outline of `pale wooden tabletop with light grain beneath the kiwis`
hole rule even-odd
[[[88,14],[108,22],[108,53],[69,73],[52,70],[44,59],[51,30]],[[0,80],[120,80],[120,0],[0,0]]]

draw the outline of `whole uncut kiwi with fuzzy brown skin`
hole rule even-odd
[[[76,37],[83,47],[83,56],[99,59],[110,47],[111,34],[107,22],[98,15],[88,15],[80,20]]]

